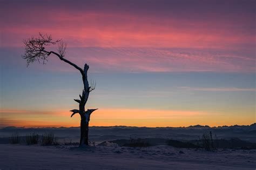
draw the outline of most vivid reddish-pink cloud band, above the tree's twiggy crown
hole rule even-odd
[[[38,8],[38,9],[37,9]],[[23,38],[39,31],[65,39],[70,46],[129,47],[245,47],[254,43],[255,35],[240,25],[218,20],[190,21],[178,17],[137,16],[133,13],[110,11],[62,11],[41,15],[42,7],[3,9],[11,13],[2,18],[1,46],[20,46]],[[252,25],[252,24],[251,24]]]

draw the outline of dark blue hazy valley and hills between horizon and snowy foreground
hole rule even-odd
[[[60,139],[78,142],[79,127],[45,127],[45,128],[24,128],[24,127],[3,127],[0,129],[0,143],[8,144],[8,138],[13,133],[19,136],[26,136],[31,133],[43,135],[52,132]],[[109,126],[89,128],[89,140],[96,143],[106,140],[130,139],[132,138],[162,138],[174,140],[198,140],[204,133],[212,132],[213,138],[230,139],[238,138],[248,142],[256,142],[256,124],[249,126],[188,126],[188,127],[129,127],[129,126]]]

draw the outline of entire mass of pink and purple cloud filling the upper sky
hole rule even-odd
[[[114,5],[116,3],[104,3],[109,9],[80,1],[68,3],[68,8],[62,3],[49,4],[18,1],[4,4],[0,11],[5,16],[0,19],[0,46],[21,47],[22,39],[37,36],[41,31],[56,39],[63,38],[68,43],[67,58],[76,63],[87,62],[95,72],[256,70],[254,18],[250,11],[239,15],[237,11],[241,9],[237,7],[240,6],[228,5],[229,13],[233,12],[231,17],[218,6],[215,10],[223,13],[214,15],[203,7],[194,6],[205,12],[205,16],[199,16],[187,6],[184,8],[188,13],[173,8],[180,14],[174,15],[161,4],[157,4],[160,5],[157,12],[130,9],[125,3],[120,4],[120,8]],[[142,4],[155,9],[152,4]],[[138,2],[138,6],[142,4]],[[241,11],[250,7],[242,5],[246,8]],[[47,12],[42,16],[46,7]],[[50,60],[48,69],[74,71],[64,68],[53,56]]]

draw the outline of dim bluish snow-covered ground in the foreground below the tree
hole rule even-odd
[[[255,169],[256,150],[0,145],[0,169]]]

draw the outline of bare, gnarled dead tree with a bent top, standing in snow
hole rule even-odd
[[[29,64],[38,61],[39,63],[43,61],[43,64],[47,62],[48,57],[53,54],[57,56],[60,60],[62,60],[65,63],[68,63],[75,67],[81,74],[82,74],[82,79],[83,79],[83,85],[84,89],[82,92],[82,96],[79,95],[80,99],[74,99],[77,103],[79,103],[79,110],[74,109],[71,110],[73,112],[71,114],[71,117],[79,113],[81,122],[80,122],[80,145],[89,145],[88,144],[88,132],[89,132],[89,121],[90,121],[90,115],[93,111],[97,110],[96,109],[88,109],[85,111],[85,104],[87,102],[87,99],[89,97],[89,93],[93,90],[95,90],[96,83],[91,83],[89,86],[88,80],[87,80],[87,71],[89,69],[89,65],[85,63],[84,69],[80,68],[76,64],[70,62],[68,59],[65,59],[65,50],[66,50],[66,43],[64,43],[62,40],[56,40],[53,41],[51,35],[42,35],[39,33],[39,37],[31,37],[29,39],[23,40],[23,43],[25,45],[25,53],[22,56],[23,59],[26,59],[27,66]],[[45,47],[49,45],[54,45],[58,44],[58,50],[57,52],[55,51],[47,51]]]

